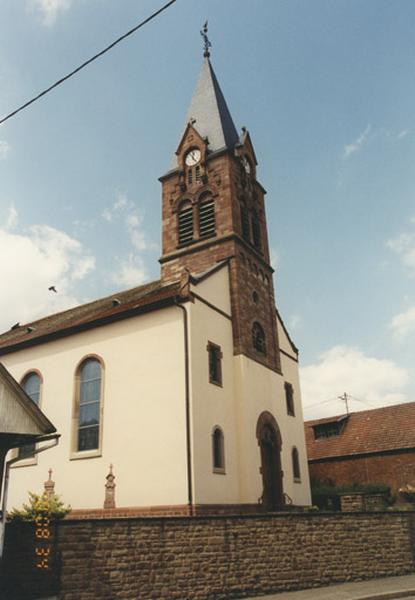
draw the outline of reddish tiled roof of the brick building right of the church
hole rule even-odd
[[[313,426],[338,421],[339,417],[304,423],[309,460],[415,449],[415,402],[351,413],[341,433],[314,438]]]

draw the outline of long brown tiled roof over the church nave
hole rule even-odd
[[[50,338],[127,318],[140,311],[150,310],[153,305],[159,306],[160,303],[168,301],[178,293],[178,283],[162,286],[160,281],[152,281],[131,290],[25,323],[0,335],[0,355]]]

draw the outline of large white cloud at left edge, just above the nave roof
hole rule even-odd
[[[79,241],[46,225],[22,233],[0,229],[0,255],[1,331],[79,304],[74,284],[95,266]]]

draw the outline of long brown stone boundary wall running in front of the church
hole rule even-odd
[[[64,520],[49,541],[36,569],[34,527],[7,526],[5,599],[219,600],[415,571],[415,513]]]

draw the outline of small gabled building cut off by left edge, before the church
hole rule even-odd
[[[9,460],[17,460],[19,454],[33,453],[36,443],[57,438],[55,433],[49,419],[0,363],[0,555],[8,488],[6,455],[13,450],[15,456]]]

